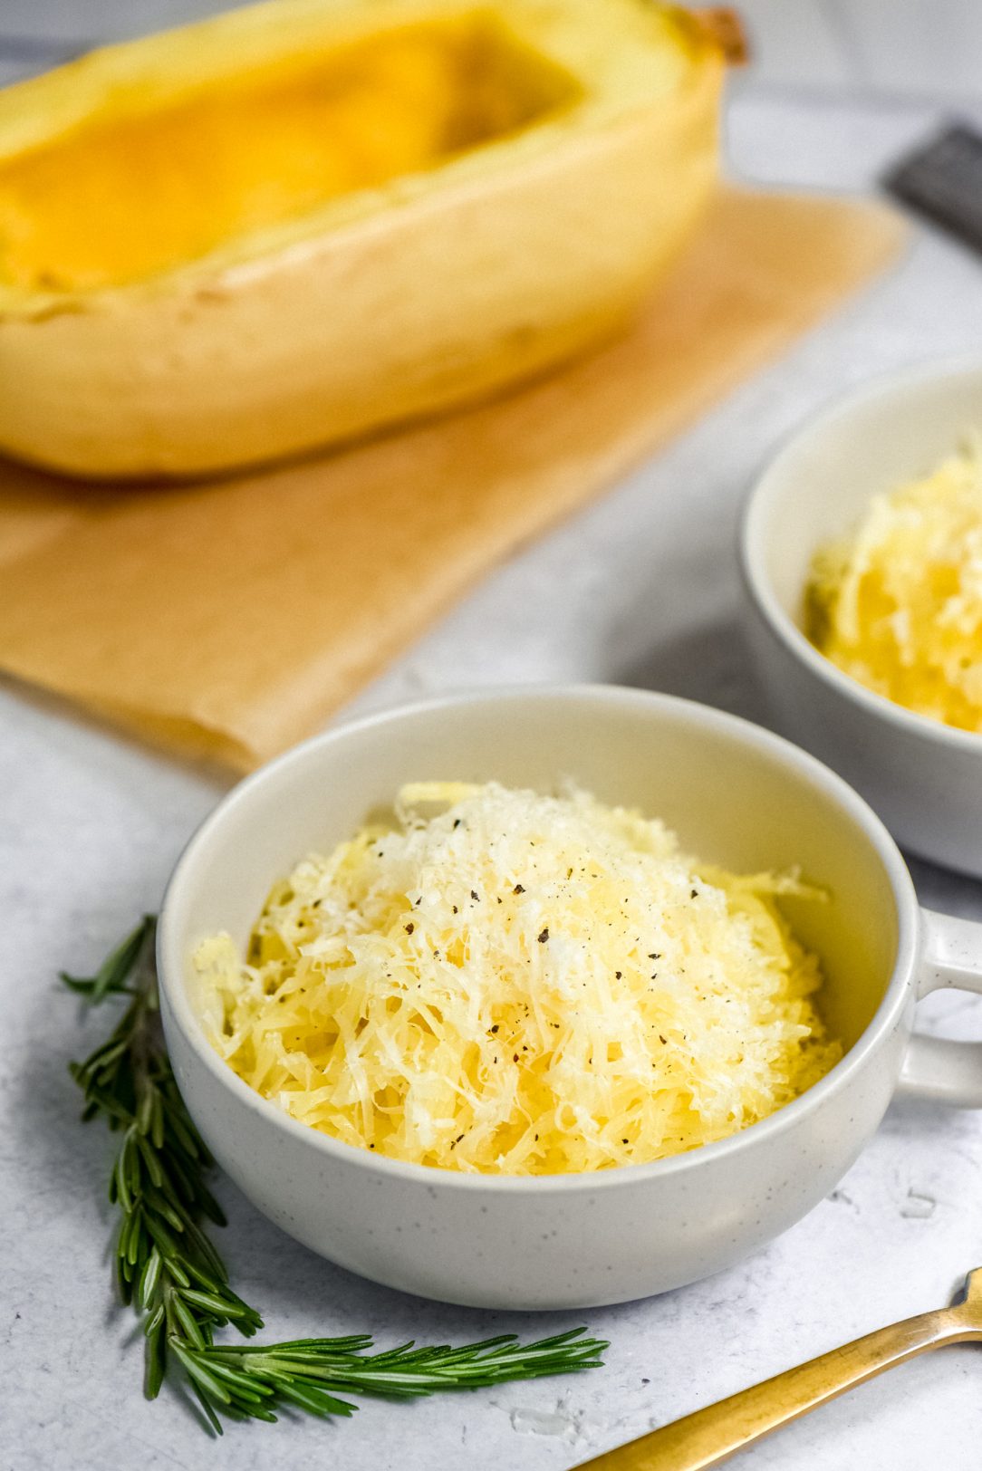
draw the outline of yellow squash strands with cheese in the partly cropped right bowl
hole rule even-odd
[[[875,496],[819,552],[808,635],[844,674],[919,715],[982,733],[982,465],[966,450]]]

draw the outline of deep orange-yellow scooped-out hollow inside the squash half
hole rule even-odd
[[[0,165],[0,279],[138,281],[433,169],[579,94],[495,16],[471,15],[281,59],[143,112],[106,107]]]

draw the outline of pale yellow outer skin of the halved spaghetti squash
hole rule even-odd
[[[679,44],[677,93],[554,122],[545,150],[493,144],[501,166],[396,182],[252,259],[29,313],[0,300],[0,447],[96,480],[221,474],[484,399],[611,335],[717,178],[723,60],[682,18]]]

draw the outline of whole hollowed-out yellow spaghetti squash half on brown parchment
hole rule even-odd
[[[0,449],[218,472],[582,350],[696,224],[721,71],[651,0],[274,0],[0,93]]]

